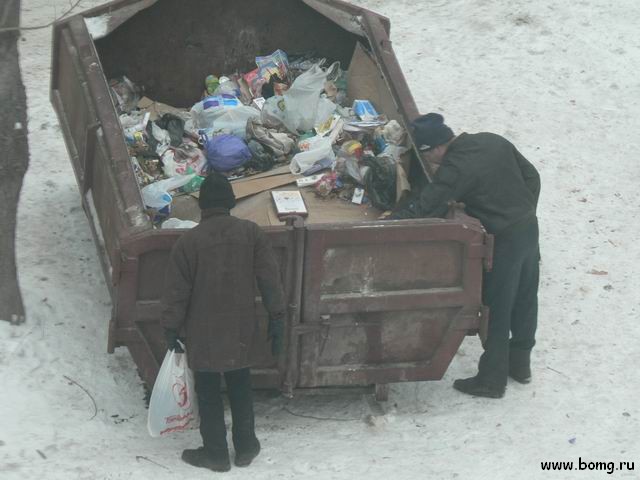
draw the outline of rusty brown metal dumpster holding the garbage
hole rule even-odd
[[[182,230],[154,229],[144,212],[107,78],[126,74],[158,101],[187,106],[214,66],[244,68],[277,48],[315,48],[348,66],[364,45],[385,113],[404,125],[418,115],[388,19],[336,0],[120,0],[56,23],[53,35],[51,101],[113,300],[107,348],[127,347],[149,386],[164,356],[164,269]],[[430,177],[431,166],[413,155]],[[291,393],[440,379],[464,336],[486,323],[481,287],[492,239],[470,217],[297,219],[265,230],[289,303],[288,338],[276,359],[266,327],[258,329],[256,387]],[[264,327],[258,296],[256,309]]]

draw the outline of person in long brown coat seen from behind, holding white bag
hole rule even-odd
[[[166,273],[162,325],[167,346],[186,335],[194,371],[204,446],[182,459],[214,471],[230,468],[220,381],[224,375],[233,421],[236,466],[260,452],[255,435],[249,354],[256,328],[257,281],[269,313],[272,353],[282,348],[285,303],[271,244],[258,225],[230,215],[235,197],[228,180],[209,175],[200,189],[201,223],[176,242]]]

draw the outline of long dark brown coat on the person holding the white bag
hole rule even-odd
[[[193,370],[250,366],[256,280],[269,314],[284,315],[280,269],[265,233],[226,209],[203,210],[200,225],[171,251],[163,297],[162,325],[184,328]]]

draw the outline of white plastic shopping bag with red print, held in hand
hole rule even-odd
[[[198,399],[187,354],[169,350],[151,392],[147,428],[152,437],[200,425]]]

